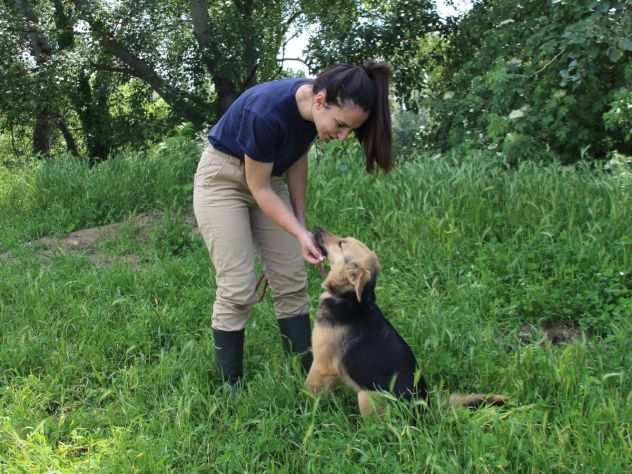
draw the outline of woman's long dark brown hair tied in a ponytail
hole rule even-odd
[[[393,167],[389,78],[386,64],[369,62],[362,66],[337,64],[314,80],[314,93],[325,90],[328,103],[341,107],[350,101],[368,112],[369,118],[355,130],[364,148],[367,171],[377,165],[388,173]]]

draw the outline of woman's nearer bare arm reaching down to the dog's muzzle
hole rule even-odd
[[[298,239],[305,260],[312,264],[319,263],[321,255],[314,244],[311,232],[298,221],[294,213],[270,186],[273,164],[256,161],[246,155],[245,166],[246,183],[261,210]]]

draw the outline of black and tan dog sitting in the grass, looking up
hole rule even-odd
[[[380,271],[377,256],[351,237],[322,229],[314,236],[330,270],[323,282],[312,332],[314,362],[306,387],[314,394],[343,382],[358,394],[363,416],[375,412],[371,392],[387,391],[399,398],[426,399],[426,382],[416,374],[410,346],[384,317],[375,301]],[[500,395],[452,395],[453,406],[504,403]]]

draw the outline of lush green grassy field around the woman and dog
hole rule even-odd
[[[308,219],[380,257],[378,301],[432,386],[423,414],[362,420],[344,390],[307,395],[269,296],[228,399],[186,220],[198,151],[172,139],[93,169],[0,169],[0,472],[630,472],[632,177],[485,156],[375,177],[343,151],[311,163]],[[29,243],[119,221],[91,249],[107,264]],[[310,269],[313,302],[319,285]],[[575,337],[553,344],[560,328]],[[511,402],[452,410],[454,391]]]

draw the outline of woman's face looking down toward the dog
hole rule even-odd
[[[369,113],[351,101],[342,106],[327,103],[325,91],[314,96],[312,104],[314,125],[320,140],[346,139],[349,134],[359,128],[369,118]]]

